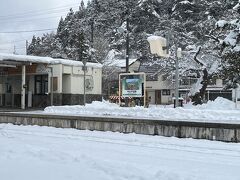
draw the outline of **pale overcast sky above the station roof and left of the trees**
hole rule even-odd
[[[15,45],[18,54],[25,54],[26,40],[44,32],[11,32],[57,28],[60,17],[65,17],[70,7],[77,10],[80,2],[81,0],[1,0],[0,53],[13,53]]]

